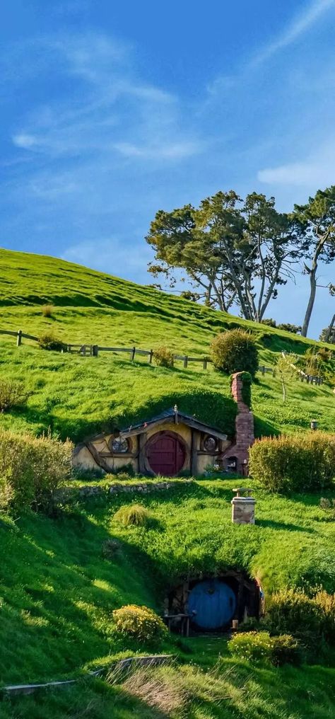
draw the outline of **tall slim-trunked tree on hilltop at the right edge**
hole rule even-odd
[[[301,226],[304,273],[308,275],[310,285],[301,329],[302,336],[306,337],[316,298],[319,264],[329,265],[335,258],[335,185],[324,191],[318,190],[306,205],[295,205],[292,216]]]

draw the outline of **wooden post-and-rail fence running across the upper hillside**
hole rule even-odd
[[[33,342],[39,342],[39,338],[33,334],[27,334],[22,329],[18,331],[12,331],[9,329],[0,329],[0,334],[8,334],[12,337],[16,337],[16,347],[20,347],[22,339],[31,339]],[[65,343],[66,344],[66,343]],[[98,344],[66,344],[67,352],[71,354],[80,354],[82,357],[98,357],[100,352],[126,352],[129,354],[129,358],[133,362],[136,354],[142,357],[148,357],[149,364],[152,364],[154,358],[154,349],[138,349],[138,347],[100,347]],[[188,354],[174,354],[174,360],[183,362],[184,368],[186,369],[189,362],[202,362],[202,367],[207,370],[207,365],[212,364],[212,360],[209,357],[189,357]],[[311,383],[315,385],[322,385],[324,383],[323,377],[317,377],[316,375],[306,375],[303,370],[299,370],[301,374],[301,382]],[[264,376],[267,372],[270,372],[275,377],[275,367],[265,367],[260,365],[259,372]]]

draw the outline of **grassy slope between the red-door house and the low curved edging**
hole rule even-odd
[[[255,526],[230,521],[234,480],[194,482],[156,496],[131,495],[150,508],[149,528],[123,527],[113,513],[128,495],[68,508],[60,518],[1,523],[0,676],[51,679],[118,651],[113,608],[143,603],[161,611],[166,587],[199,572],[243,567],[277,587],[322,584],[335,590],[334,523],[313,496],[258,492]],[[141,498],[141,499],[140,499]],[[121,552],[103,559],[105,539]]]

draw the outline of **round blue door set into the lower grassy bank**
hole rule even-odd
[[[236,607],[234,592],[225,582],[198,582],[189,593],[189,614],[202,629],[219,629],[232,619]]]

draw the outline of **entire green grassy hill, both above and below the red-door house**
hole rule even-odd
[[[72,343],[136,345],[204,355],[218,331],[253,331],[261,362],[275,364],[282,349],[303,354],[318,343],[247,323],[224,313],[164,295],[52,257],[0,252],[0,329],[37,336],[52,331]],[[52,318],[42,306],[55,306]],[[49,428],[73,441],[110,426],[128,426],[174,403],[232,434],[235,404],[230,378],[199,365],[173,370],[130,362],[122,354],[80,357],[45,352],[0,336],[0,378],[20,379],[27,406],[2,413],[0,426],[40,434]],[[331,388],[292,381],[288,402],[280,384],[258,375],[253,387],[258,435],[303,431],[316,418],[334,431]],[[79,481],[79,480],[78,480]],[[224,638],[180,641],[169,636],[159,651],[174,654],[170,669],[112,685],[85,672],[107,666],[120,651],[111,631],[113,608],[146,604],[161,612],[166,586],[199,572],[242,567],[258,577],[265,596],[278,587],[322,585],[335,590],[334,523],[319,497],[268,497],[258,490],[257,523],[230,521],[234,481],[199,481],[159,496],[131,495],[154,515],[151,528],[122,528],[113,521],[128,495],[87,500],[60,508],[56,518],[28,513],[0,520],[0,687],[21,682],[82,677],[65,691],[6,697],[1,719],[331,719],[334,661],[300,669],[256,666],[227,654]],[[74,483],[75,486],[75,483]],[[103,542],[119,551],[103,557]],[[149,651],[149,649],[147,650]],[[318,659],[321,661],[321,659]],[[144,682],[145,684],[145,682]],[[143,687],[143,677],[137,686]],[[164,695],[165,706],[153,705]]]

